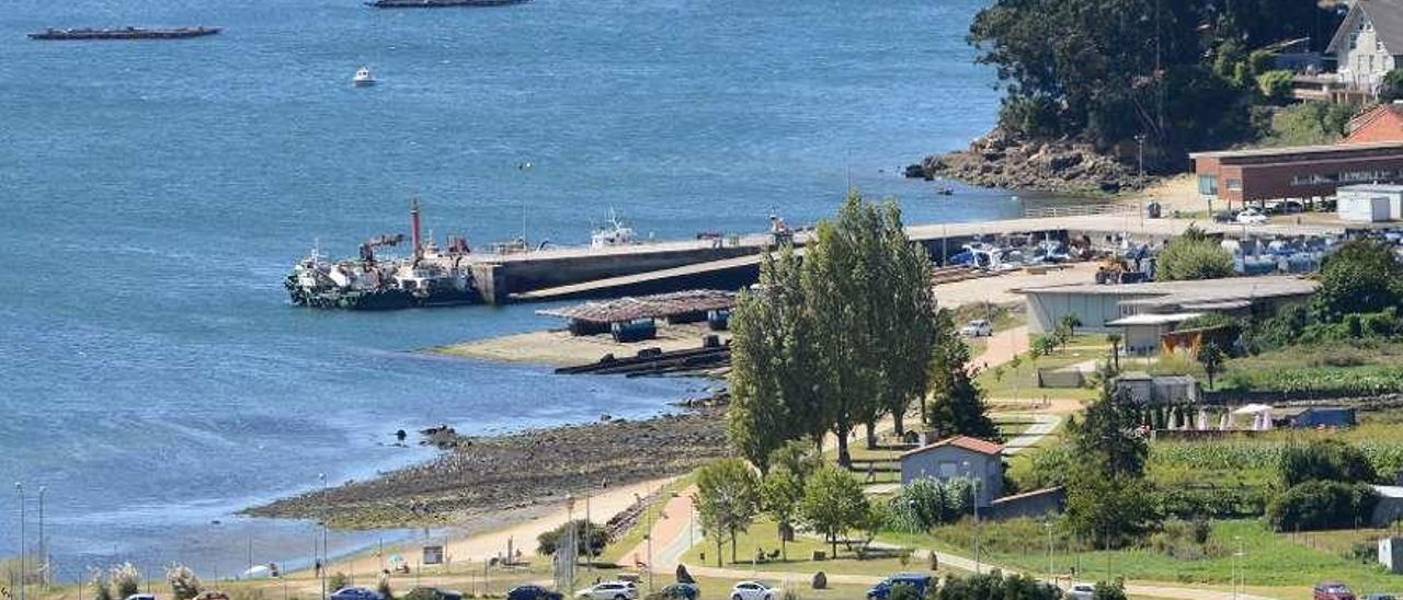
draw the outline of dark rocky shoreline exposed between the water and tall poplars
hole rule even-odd
[[[557,505],[567,493],[678,475],[727,454],[724,408],[651,419],[600,418],[502,436],[421,432],[442,454],[246,510],[258,517],[325,519],[337,529],[425,527]]]

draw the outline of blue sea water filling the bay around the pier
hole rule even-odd
[[[310,554],[314,526],[231,513],[491,432],[647,415],[689,380],[560,377],[415,349],[549,325],[533,306],[296,310],[281,279],[427,227],[584,243],[758,231],[852,184],[909,221],[1007,217],[996,191],[898,177],[993,121],[964,35],[981,0],[7,0],[0,18],[0,481],[43,485],[58,576],[130,559],[203,573]],[[174,42],[34,42],[43,27],[219,25]],[[382,80],[352,88],[369,64]],[[530,168],[518,168],[529,161]],[[18,496],[0,493],[0,555]],[[216,524],[217,521],[217,524]],[[398,533],[404,534],[404,533]],[[348,550],[380,534],[335,534]]]

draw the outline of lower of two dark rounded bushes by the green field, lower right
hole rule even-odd
[[[1367,523],[1379,496],[1365,484],[1308,481],[1287,489],[1267,506],[1277,531],[1345,529]]]

